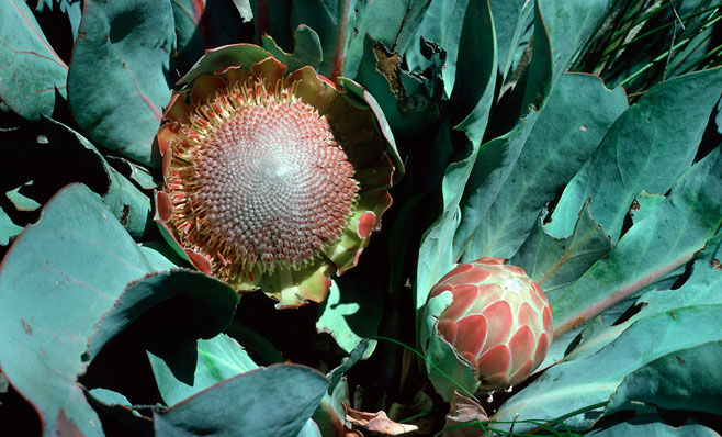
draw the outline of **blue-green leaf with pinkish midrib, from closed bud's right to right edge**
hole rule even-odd
[[[689,169],[664,203],[572,285],[546,293],[554,336],[664,279],[704,247],[722,223],[722,149]]]

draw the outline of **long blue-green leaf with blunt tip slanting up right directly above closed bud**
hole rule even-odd
[[[511,257],[544,205],[589,159],[625,109],[621,88],[610,91],[590,75],[563,75],[509,178],[471,235],[464,259]]]

